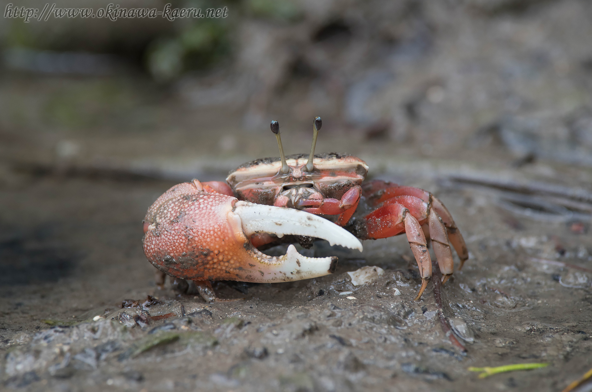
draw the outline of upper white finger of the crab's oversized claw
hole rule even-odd
[[[308,235],[323,238],[331,245],[362,251],[362,243],[349,231],[309,212],[239,201],[234,206],[234,213],[240,216],[247,237],[258,232],[278,237]]]

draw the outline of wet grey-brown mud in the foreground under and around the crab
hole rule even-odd
[[[340,257],[333,275],[220,282],[220,297],[244,300],[205,304],[191,287],[157,289],[141,248],[141,219],[173,181],[5,164],[2,383],[32,391],[560,390],[592,364],[592,193],[582,186],[591,173],[549,162],[516,168],[510,157],[482,154],[472,162],[366,154],[388,163],[376,177],[433,190],[461,228],[471,257],[442,299],[444,317],[474,334],[460,340],[466,353],[443,332],[432,285],[413,301],[420,281],[404,238],[365,241],[362,254],[317,242],[310,253]],[[223,177],[219,170],[210,175]],[[362,266],[384,275],[353,286],[346,272]],[[148,295],[155,304],[121,308]],[[159,315],[166,318],[151,318]],[[550,365],[484,380],[467,370],[522,362]]]

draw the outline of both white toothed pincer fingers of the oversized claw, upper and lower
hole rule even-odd
[[[362,243],[353,234],[320,216],[292,208],[260,205],[239,201],[229,213],[229,221],[242,228],[250,238],[255,233],[284,235],[305,235],[322,238],[330,245],[340,245],[362,251]],[[284,256],[273,257],[252,248],[253,256],[263,268],[259,270],[262,282],[285,282],[296,279],[315,278],[334,272],[337,257],[305,257],[293,245],[288,246]],[[279,272],[279,274],[278,274]]]

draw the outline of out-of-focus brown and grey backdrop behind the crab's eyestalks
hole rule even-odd
[[[270,120],[291,154],[321,116],[318,151],[358,154],[371,174],[394,157],[592,166],[587,1],[172,4],[223,6],[172,22],[1,18],[2,160],[220,178],[277,155]]]

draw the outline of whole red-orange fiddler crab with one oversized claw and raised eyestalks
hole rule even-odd
[[[422,278],[416,301],[432,276],[426,238],[432,243],[442,283],[453,272],[451,246],[468,259],[465,241],[446,207],[432,193],[388,181],[363,183],[368,165],[349,154],[314,155],[322,122],[313,122],[310,155],[285,157],[279,124],[271,122],[279,158],[261,158],[236,168],[222,181],[193,180],[167,190],[144,218],[144,254],[165,274],[195,282],[207,302],[211,282],[274,283],[333,273],[337,257],[305,257],[293,244],[284,256],[258,248],[317,238],[362,250],[359,240],[407,235]],[[308,158],[308,159],[307,159]],[[460,268],[459,268],[460,269]]]

